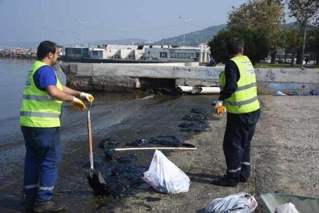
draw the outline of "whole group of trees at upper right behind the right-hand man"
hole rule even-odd
[[[285,23],[285,4],[290,17],[297,21]],[[295,55],[297,64],[303,61],[303,49],[316,55],[319,64],[319,1],[317,0],[249,0],[228,14],[227,27],[219,31],[209,42],[212,57],[217,62],[228,59],[226,43],[230,38],[241,38],[245,42],[244,54],[253,63],[271,55],[276,63],[277,50],[285,49]],[[305,42],[304,42],[305,41]]]

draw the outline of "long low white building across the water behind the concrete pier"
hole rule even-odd
[[[170,47],[159,45],[102,45],[97,47],[67,47],[67,57],[90,57],[92,59],[153,60],[172,62],[199,62],[210,59],[209,47]]]

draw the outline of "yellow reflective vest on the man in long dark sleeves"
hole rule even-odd
[[[237,82],[236,91],[223,101],[223,106],[229,113],[250,113],[260,108],[257,97],[256,75],[252,62],[247,56],[236,56],[230,60],[234,61],[239,69],[240,78]],[[220,75],[220,85],[226,84],[225,73]]]

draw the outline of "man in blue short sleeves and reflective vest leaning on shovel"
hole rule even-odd
[[[85,104],[79,98],[91,102],[94,97],[61,85],[52,68],[58,58],[55,43],[42,42],[37,56],[26,77],[20,110],[26,148],[23,201],[26,210],[54,212],[65,208],[51,200],[61,162],[58,128],[62,101],[84,111]]]

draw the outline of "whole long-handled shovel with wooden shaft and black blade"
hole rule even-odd
[[[88,179],[89,185],[93,189],[95,195],[108,195],[110,194],[110,191],[108,190],[107,182],[105,182],[101,172],[94,170],[91,118],[90,118],[91,107],[92,107],[92,102],[90,102],[90,107],[87,110],[90,168],[89,170],[85,171],[85,174]]]

